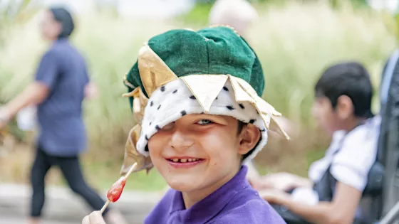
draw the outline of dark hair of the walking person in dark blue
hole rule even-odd
[[[62,26],[58,39],[68,38],[71,36],[71,33],[75,28],[71,14],[62,7],[51,7],[49,10],[53,14],[54,19],[58,21],[58,23],[61,23]]]

